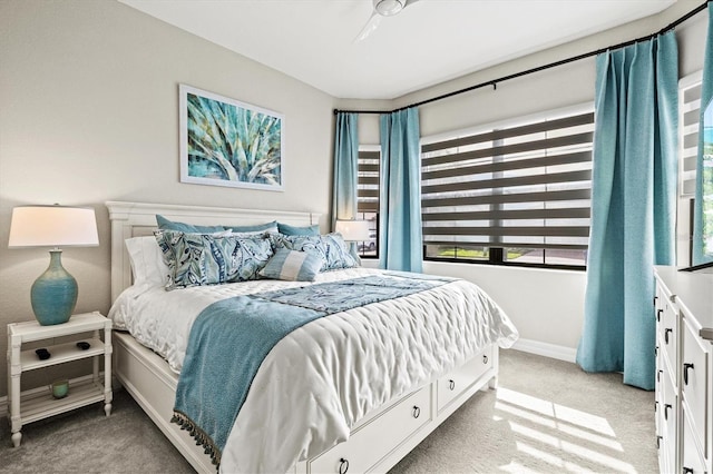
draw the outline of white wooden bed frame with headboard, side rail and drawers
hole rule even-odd
[[[111,300],[131,284],[131,269],[124,241],[150,235],[156,215],[196,225],[251,225],[279,220],[293,226],[319,224],[313,213],[234,209],[218,207],[106,203],[111,220]],[[202,473],[215,473],[211,457],[195,440],[174,423],[173,406],[178,376],[168,364],[124,332],[114,334],[115,374],[178,452]],[[385,472],[478,389],[497,386],[498,348],[488,346],[445,377],[380,407],[360,421],[348,442],[307,461],[296,473]]]

